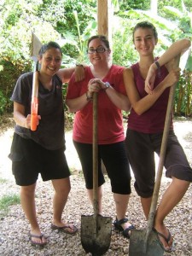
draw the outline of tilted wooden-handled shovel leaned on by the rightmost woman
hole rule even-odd
[[[177,56],[176,67],[178,67],[180,56]],[[157,170],[157,177],[154,184],[154,194],[152,197],[150,212],[148,215],[148,226],[146,230],[132,230],[130,237],[129,256],[162,256],[164,254],[163,248],[160,246],[157,234],[153,230],[154,215],[160,191],[160,181],[163,172],[164,160],[166,155],[166,144],[169,134],[169,127],[172,117],[173,100],[176,84],[173,84],[166,109],[166,120],[164,125],[163,137],[160,147],[160,160]]]

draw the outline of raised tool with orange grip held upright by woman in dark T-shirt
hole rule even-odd
[[[31,130],[36,131],[38,125],[38,50],[41,48],[41,42],[32,32],[32,60],[35,62],[32,78],[32,102],[31,102]]]

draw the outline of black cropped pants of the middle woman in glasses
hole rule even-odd
[[[84,172],[86,189],[93,189],[92,144],[74,142]],[[108,172],[113,193],[131,194],[131,172],[125,142],[98,145],[98,186],[105,182],[102,161]]]

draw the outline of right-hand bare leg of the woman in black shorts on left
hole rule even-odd
[[[62,227],[64,224],[61,221],[63,209],[67,203],[68,194],[71,189],[69,177],[52,180],[55,189],[53,198],[53,224]]]

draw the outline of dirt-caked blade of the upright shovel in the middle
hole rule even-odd
[[[100,256],[111,242],[112,218],[101,215],[81,216],[81,244],[86,253]]]

